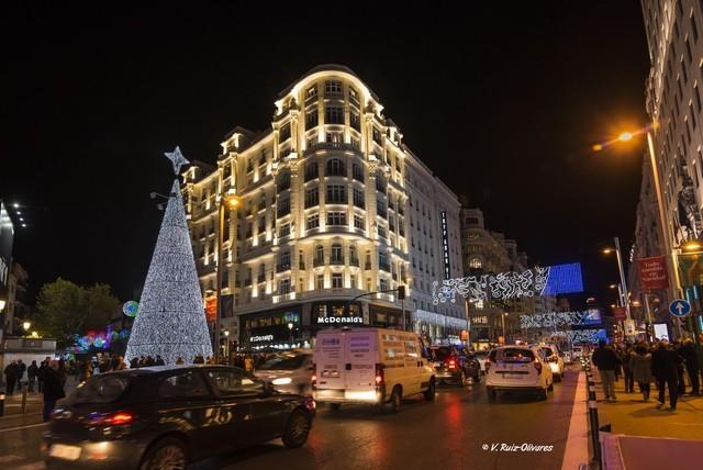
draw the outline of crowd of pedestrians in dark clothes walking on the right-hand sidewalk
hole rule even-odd
[[[671,344],[666,339],[652,344],[625,343],[614,348],[601,340],[593,351],[592,361],[599,369],[606,400],[617,399],[615,382],[620,377],[625,381],[626,393],[634,393],[637,383],[645,401],[649,400],[654,381],[659,392],[657,406],[660,409],[665,404],[667,391],[671,411],[677,410],[679,396],[687,393],[701,394],[703,357],[691,338]],[[690,391],[687,388],[687,376]]]

